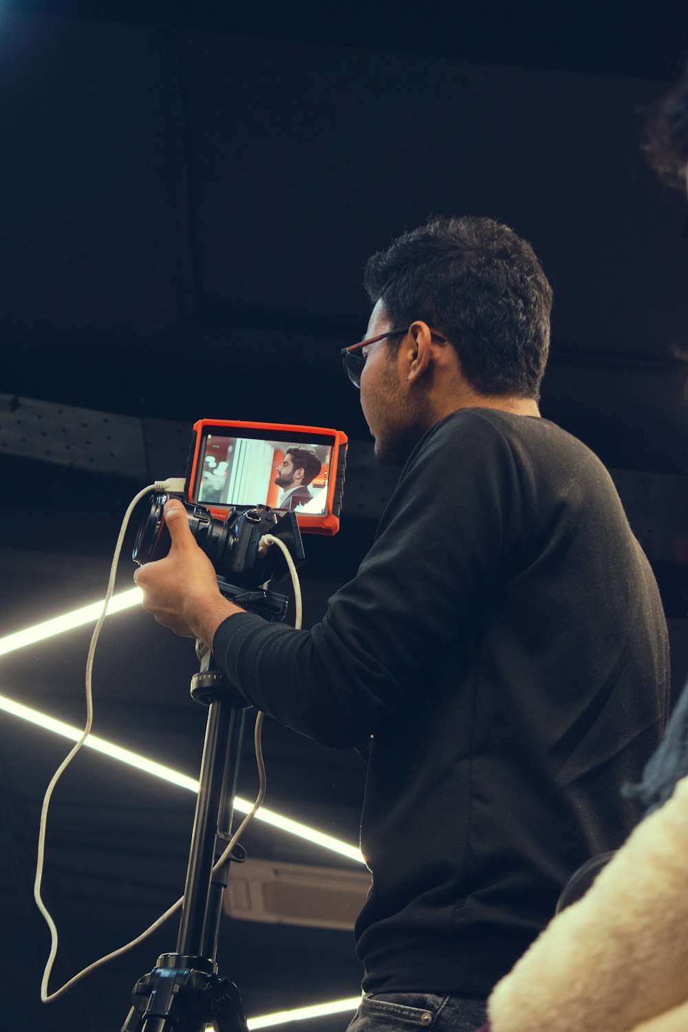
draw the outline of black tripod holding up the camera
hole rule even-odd
[[[223,587],[229,585],[221,583]],[[264,603],[269,595],[272,618],[281,618],[277,610],[284,616],[284,595],[249,593]],[[232,594],[237,598],[237,590]],[[242,601],[245,598],[242,592]],[[223,678],[208,646],[198,643],[197,653],[201,666],[191,679],[191,695],[208,707],[208,715],[176,950],[162,954],[155,968],[136,982],[122,1032],[203,1032],[210,1024],[217,1032],[248,1032],[239,991],[229,978],[218,975],[215,960],[229,862],[215,875],[212,868],[231,838],[250,704]],[[241,863],[245,851],[237,845],[230,859]]]

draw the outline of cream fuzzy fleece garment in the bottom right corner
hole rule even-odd
[[[488,1004],[492,1032],[688,1032],[688,777]]]

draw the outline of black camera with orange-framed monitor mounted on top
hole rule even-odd
[[[178,497],[189,527],[233,599],[288,576],[280,549],[259,548],[270,534],[298,566],[302,533],[339,529],[348,439],[340,430],[279,423],[202,419],[194,424],[183,494],[155,492],[136,537],[139,565],[167,555],[163,517]],[[225,590],[228,589],[228,590]]]

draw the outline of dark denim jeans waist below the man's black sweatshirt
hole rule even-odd
[[[430,993],[368,993],[348,1032],[476,1032],[487,1021],[487,1001]]]

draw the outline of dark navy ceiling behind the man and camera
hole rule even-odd
[[[5,2],[2,634],[102,596],[129,499],[184,472],[175,456],[196,419],[335,426],[365,442],[338,357],[367,321],[363,262],[432,212],[478,214],[530,239],[552,280],[543,412],[614,471],[671,618],[678,683],[686,204],[655,181],[640,139],[643,109],[686,55],[685,2]],[[56,457],[48,416],[73,460]],[[81,424],[105,418],[110,433],[87,457]],[[169,434],[158,459],[152,421]],[[132,427],[145,458],[113,473]],[[306,541],[306,622],[355,573],[389,488],[362,444],[352,452],[340,534]],[[125,556],[122,587],[130,575]],[[81,723],[89,634],[2,657],[0,694]],[[141,612],[113,616],[96,657],[97,733],[195,776],[195,669],[191,643]],[[269,805],[355,843],[360,757],[274,724],[265,737]],[[175,923],[38,1002],[48,939],[31,894],[37,814],[67,745],[8,715],[0,744],[3,1014],[36,1032],[117,1030],[136,978],[174,947]],[[250,742],[244,753],[250,796]],[[48,834],[56,982],[176,898],[192,812],[189,793],[78,757]],[[245,845],[352,867],[264,827]],[[351,934],[335,930],[226,921],[219,959],[249,1014],[353,996],[360,976]]]

